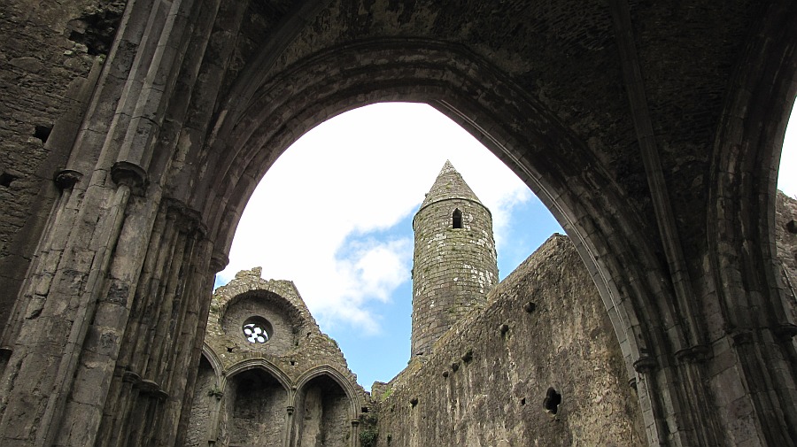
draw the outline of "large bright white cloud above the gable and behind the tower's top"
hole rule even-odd
[[[262,266],[297,284],[324,325],[378,332],[369,303],[409,281],[412,241],[377,241],[421,203],[446,159],[491,209],[502,243],[530,191],[461,127],[425,104],[375,104],[302,136],[277,159],[237,228],[222,281]],[[410,297],[406,297],[410,299]]]

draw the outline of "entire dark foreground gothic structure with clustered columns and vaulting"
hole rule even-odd
[[[797,438],[772,217],[793,2],[129,0],[100,56],[75,35],[112,5],[63,3],[11,2],[27,31],[4,21],[0,40],[29,81],[3,94],[3,155],[32,160],[5,157],[0,191],[4,445],[181,445],[179,372],[251,190],[307,129],[380,101],[460,123],[561,222],[649,443]]]

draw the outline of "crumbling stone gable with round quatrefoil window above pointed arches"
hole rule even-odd
[[[203,357],[214,367],[200,369],[184,445],[350,445],[365,392],[293,282],[260,272],[213,294]]]

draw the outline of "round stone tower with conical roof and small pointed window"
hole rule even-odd
[[[412,356],[441,335],[498,282],[492,215],[449,161],[413,220]]]

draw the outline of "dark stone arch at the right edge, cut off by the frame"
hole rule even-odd
[[[797,30],[787,25],[794,15],[793,4],[770,4],[747,40],[717,127],[708,185],[704,299],[718,312],[708,331],[713,340],[730,339],[715,356],[738,362],[725,374],[749,389],[755,411],[746,423],[760,424],[770,445],[797,439],[797,321],[775,242],[780,152],[797,96]],[[774,373],[762,358],[784,358],[788,371]]]

